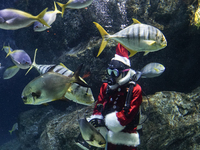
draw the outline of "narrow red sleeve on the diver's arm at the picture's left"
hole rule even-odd
[[[94,111],[93,111],[93,115],[101,115],[101,112],[98,111],[97,109],[97,105],[104,105],[105,103],[105,94],[106,94],[106,89],[107,89],[107,83],[103,83],[101,88],[100,88],[100,92],[99,92],[99,95],[98,95],[98,100],[95,104],[95,107],[94,107]],[[103,106],[104,107],[104,106]]]

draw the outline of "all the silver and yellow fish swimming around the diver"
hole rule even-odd
[[[54,11],[44,9],[37,16],[17,9],[0,10],[0,29],[17,30],[28,27],[33,24],[35,32],[42,32],[51,28],[55,22],[57,14],[64,15],[65,9],[82,9],[88,7],[93,0],[69,0],[66,4],[54,2]],[[62,11],[57,9],[56,3],[61,7]],[[198,13],[196,13],[196,16]],[[129,52],[130,56],[134,56],[138,52],[149,52],[161,50],[167,46],[167,40],[164,34],[157,28],[140,23],[133,18],[133,24],[122,29],[121,31],[110,35],[104,28],[94,22],[99,30],[102,42],[97,57],[102,53],[109,40],[115,40],[123,45]],[[199,21],[196,19],[196,25],[199,27]],[[40,73],[38,77],[30,81],[22,91],[21,98],[24,104],[41,105],[55,100],[68,99],[73,102],[91,105],[94,103],[94,97],[90,86],[79,76],[81,68],[73,72],[64,64],[36,64],[36,53],[31,61],[30,56],[21,49],[13,50],[10,46],[3,46],[6,57],[10,56],[14,66],[8,67],[3,75],[4,79],[10,79],[20,70],[28,69],[27,73],[34,67]],[[1,66],[0,69],[4,67]],[[154,78],[160,76],[165,71],[165,67],[160,63],[149,63],[140,71],[137,71],[136,79]],[[26,74],[27,74],[26,73]],[[79,119],[79,128],[83,139],[90,145],[104,148],[106,139],[99,133],[86,118]],[[18,129],[15,123],[10,134]]]

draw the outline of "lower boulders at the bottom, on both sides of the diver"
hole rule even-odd
[[[143,123],[138,149],[200,149],[199,93],[200,87],[188,94],[162,91],[143,96],[143,115],[147,115],[148,119]],[[80,149],[75,144],[80,134],[78,118],[90,116],[93,107],[70,106],[61,112],[47,106],[22,113],[18,122],[19,142],[16,150]],[[0,149],[5,147],[11,150],[8,144]]]

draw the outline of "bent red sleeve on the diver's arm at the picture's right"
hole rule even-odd
[[[142,103],[142,89],[140,85],[137,84],[133,89],[133,96],[130,102],[130,109],[128,115],[127,116],[125,115],[124,110],[117,112],[116,114],[118,121],[122,126],[126,126],[133,120],[133,118],[139,111],[139,106],[141,105],[141,103]]]

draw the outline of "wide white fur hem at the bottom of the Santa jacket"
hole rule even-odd
[[[112,131],[108,131],[108,142],[112,144],[137,147],[140,144],[140,138],[138,133],[114,133]]]

